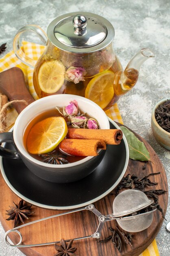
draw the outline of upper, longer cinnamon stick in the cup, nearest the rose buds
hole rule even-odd
[[[120,129],[78,129],[69,128],[68,138],[70,139],[101,139],[106,144],[118,145],[123,137]]]

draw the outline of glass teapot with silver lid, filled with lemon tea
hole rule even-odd
[[[35,32],[47,45],[36,62],[22,52],[20,35]],[[76,12],[55,18],[46,33],[36,25],[22,27],[13,40],[16,56],[33,67],[33,84],[39,98],[76,94],[109,108],[137,82],[142,63],[155,54],[141,49],[122,70],[113,51],[114,28],[94,13]]]

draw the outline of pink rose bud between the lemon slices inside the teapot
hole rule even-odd
[[[68,81],[73,81],[74,83],[79,83],[80,81],[85,81],[84,76],[87,74],[83,67],[69,67],[65,73],[65,79]]]

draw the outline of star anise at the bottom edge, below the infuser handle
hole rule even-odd
[[[54,245],[55,249],[58,251],[54,256],[76,256],[74,252],[76,252],[77,248],[72,247],[74,239],[71,239],[67,244],[64,239],[61,239],[60,244],[57,243]]]

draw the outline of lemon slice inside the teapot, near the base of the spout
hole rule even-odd
[[[95,76],[87,85],[85,97],[94,101],[100,108],[105,108],[114,95],[113,79],[114,73],[111,71]]]

